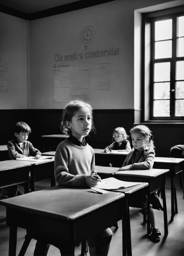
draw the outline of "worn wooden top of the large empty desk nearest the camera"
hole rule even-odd
[[[90,188],[56,186],[4,199],[0,204],[52,218],[74,220],[124,196],[119,192],[102,195]]]

